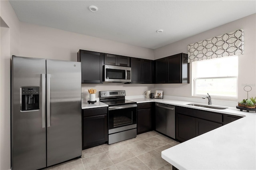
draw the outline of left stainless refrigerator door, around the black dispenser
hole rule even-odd
[[[46,167],[46,128],[42,123],[45,89],[41,86],[45,64],[45,59],[12,57],[12,170]],[[39,109],[21,111],[21,87],[26,86],[39,87]]]

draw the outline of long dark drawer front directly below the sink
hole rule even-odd
[[[190,109],[186,107],[176,107],[175,110],[176,110],[176,113],[180,113],[183,115],[188,115],[188,116],[205,119],[208,121],[219,122],[219,123],[223,122],[222,114],[213,113],[209,111],[201,111],[197,109]]]

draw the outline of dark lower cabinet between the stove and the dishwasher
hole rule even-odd
[[[139,103],[137,108],[137,134],[153,130],[152,103]]]

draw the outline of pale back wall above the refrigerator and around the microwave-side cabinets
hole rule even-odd
[[[85,36],[34,24],[20,23],[20,55],[77,61],[79,49],[113,53],[130,57],[154,59],[152,49]],[[82,97],[89,97],[87,89],[97,91],[125,89],[127,95],[141,95],[154,85],[124,85],[122,83],[82,84]],[[98,93],[96,94],[98,97]]]

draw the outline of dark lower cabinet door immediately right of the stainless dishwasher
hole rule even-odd
[[[196,137],[196,118],[176,113],[176,139],[184,142]]]

